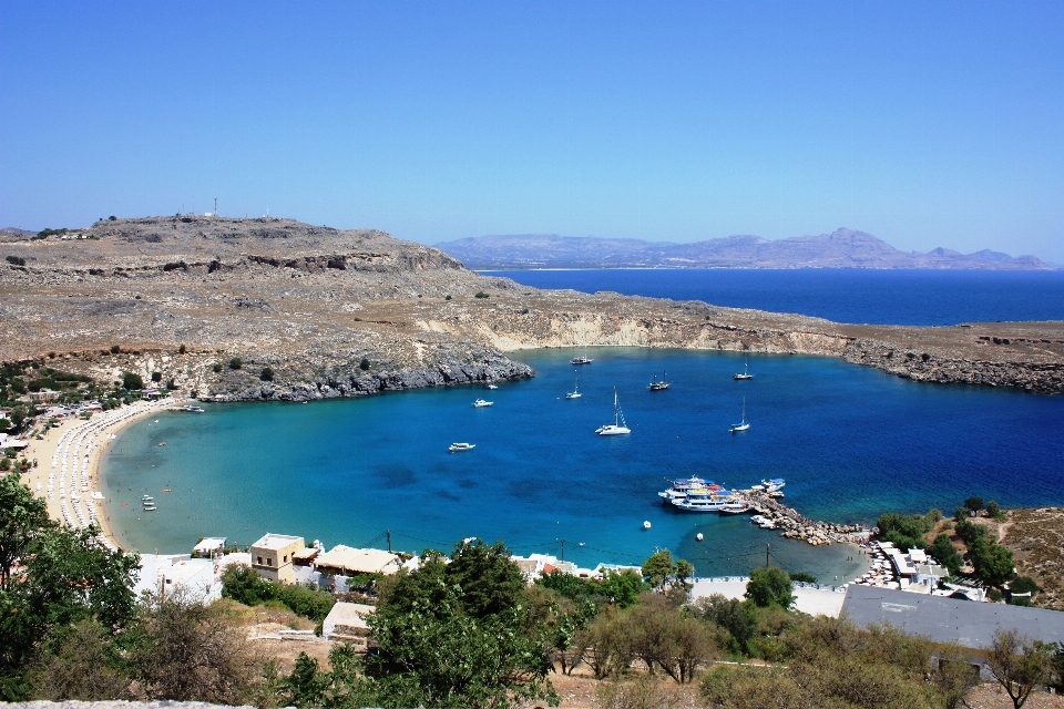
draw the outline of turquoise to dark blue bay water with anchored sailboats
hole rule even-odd
[[[732,486],[782,476],[804,514],[864,523],[888,510],[950,513],[973,494],[1064,504],[1062,397],[917,384],[830,358],[750,356],[755,378],[737,382],[734,353],[598,348],[593,364],[574,368],[575,353],[518,352],[538,376],[494,391],[160,413],[105,452],[108,514],[143,552],[185,552],[214,535],[246,544],[265,532],[382,547],[390,530],[408,552],[479,536],[559,554],[564,540],[565,558],[582,565],[668,547],[699,575],[720,575],[764,563],[771,544],[784,567],[830,580],[856,568],[850,549],[787,542],[745,515],[674,512],[656,492],[665,477],[692,474]],[[663,370],[673,388],[648,392]],[[565,400],[574,371],[584,395]],[[601,438],[614,386],[633,433]],[[730,434],[744,395],[753,425]],[[495,403],[474,409],[478,397]],[[449,453],[454,441],[477,449]],[[144,492],[156,512],[140,511]]]

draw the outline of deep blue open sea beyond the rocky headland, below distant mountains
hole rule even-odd
[[[626,296],[704,300],[798,312],[836,322],[956,325],[1064,320],[1064,270],[878,270],[750,268],[507,270],[536,288],[614,290]]]

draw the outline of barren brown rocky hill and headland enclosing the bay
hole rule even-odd
[[[851,326],[545,291],[368,229],[180,215],[3,249],[0,360],[52,356],[103,381],[157,371],[219,399],[497,381],[532,374],[510,358],[520,349],[604,345],[837,356],[917,380],[1064,391],[1064,322]],[[234,357],[241,369],[218,367]]]

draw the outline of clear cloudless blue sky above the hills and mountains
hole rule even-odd
[[[0,0],[0,226],[863,229],[1064,263],[1064,2]]]

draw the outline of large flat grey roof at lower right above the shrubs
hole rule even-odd
[[[842,612],[859,626],[889,623],[933,643],[955,640],[973,649],[989,647],[998,628],[1015,629],[1043,643],[1064,643],[1064,613],[1044,608],[855,585],[847,589]]]

